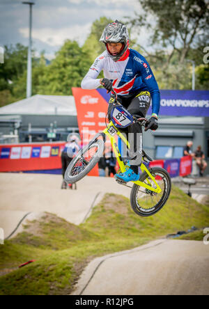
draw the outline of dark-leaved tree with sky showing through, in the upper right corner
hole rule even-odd
[[[144,13],[130,20],[132,26],[151,29],[150,45],[160,45],[160,49],[170,47],[167,65],[175,52],[183,64],[193,47],[206,46],[209,30],[208,0],[139,0]],[[155,24],[147,21],[148,15]],[[144,47],[141,47],[144,49]],[[147,52],[147,51],[146,51]],[[149,55],[150,53],[147,52]]]

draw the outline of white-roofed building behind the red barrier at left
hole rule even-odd
[[[33,95],[0,109],[0,143],[66,141],[78,132],[72,95]]]

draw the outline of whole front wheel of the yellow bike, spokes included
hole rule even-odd
[[[72,159],[65,171],[65,181],[74,184],[82,180],[98,163],[104,152],[104,141],[101,139],[89,143]]]

